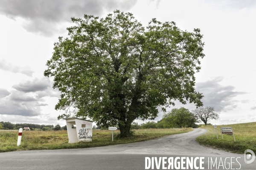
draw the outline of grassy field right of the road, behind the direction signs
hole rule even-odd
[[[236,142],[233,135],[223,134],[221,139],[220,127],[233,127]],[[244,153],[244,150],[250,149],[256,153],[256,122],[241,123],[233,125],[218,125],[218,139],[213,126],[201,126],[200,128],[207,129],[208,132],[199,136],[196,140],[200,144],[211,146],[214,148],[230,151],[233,153]]]

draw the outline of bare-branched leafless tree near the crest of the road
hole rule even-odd
[[[207,122],[210,119],[219,119],[219,113],[214,111],[214,107],[200,107],[192,111],[194,116],[198,119],[198,121],[204,122],[207,125]]]

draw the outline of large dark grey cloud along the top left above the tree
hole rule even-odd
[[[29,32],[52,36],[59,23],[70,22],[71,17],[84,14],[101,16],[104,11],[128,10],[137,0],[1,0],[0,13],[15,20],[26,20],[23,25]]]

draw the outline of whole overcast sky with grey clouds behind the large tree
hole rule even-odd
[[[115,9],[143,26],[157,18],[184,31],[200,28],[205,57],[195,89],[220,113],[211,123],[256,122],[255,0],[0,0],[0,122],[65,125],[57,120],[63,111],[54,110],[60,93],[43,75],[53,43],[67,37],[70,17],[105,17]],[[179,102],[172,108],[180,107],[195,109]]]

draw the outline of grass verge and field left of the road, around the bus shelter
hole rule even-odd
[[[67,130],[61,131],[23,131],[21,145],[17,147],[18,130],[0,130],[0,152],[15,150],[46,150],[99,147],[112,144],[125,144],[155,139],[166,135],[186,133],[192,128],[182,129],[140,129],[134,130],[134,136],[127,139],[116,138],[119,130],[114,130],[112,142],[111,130],[93,130],[92,142],[68,143]]]

